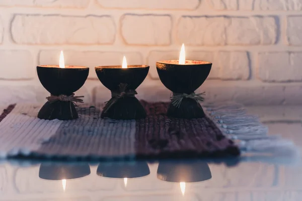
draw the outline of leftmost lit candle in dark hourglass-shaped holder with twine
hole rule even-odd
[[[61,51],[59,65],[37,66],[41,84],[50,92],[48,102],[41,108],[38,118],[46,120],[72,120],[78,118],[76,103],[83,103],[81,97],[74,96],[85,83],[89,68],[83,66],[65,66]]]

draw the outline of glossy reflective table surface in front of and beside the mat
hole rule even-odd
[[[270,134],[281,134],[302,147],[301,106],[249,107],[248,111],[260,116]],[[302,163],[296,155],[255,154],[220,161],[4,160],[0,161],[0,200],[302,200]]]

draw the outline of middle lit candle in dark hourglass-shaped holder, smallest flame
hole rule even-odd
[[[124,57],[121,66],[98,66],[95,70],[99,80],[111,90],[111,99],[102,112],[102,118],[129,120],[146,117],[144,108],[135,97],[135,90],[147,76],[149,66],[127,65]]]

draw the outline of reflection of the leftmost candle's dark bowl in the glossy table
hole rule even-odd
[[[82,164],[41,164],[39,177],[47,180],[75,179],[90,174],[88,163]]]

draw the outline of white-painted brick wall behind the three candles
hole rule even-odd
[[[156,61],[213,63],[207,100],[302,104],[302,0],[0,0],[2,103],[44,102],[36,65],[89,66],[87,100],[108,99],[94,66],[148,64],[139,98],[168,100]],[[41,92],[42,91],[42,92]]]

